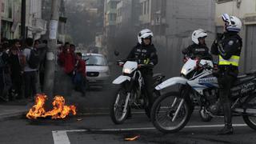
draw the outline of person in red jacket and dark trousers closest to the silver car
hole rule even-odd
[[[86,62],[82,60],[81,53],[76,53],[76,58],[77,61],[74,69],[74,90],[81,92],[85,96]]]

